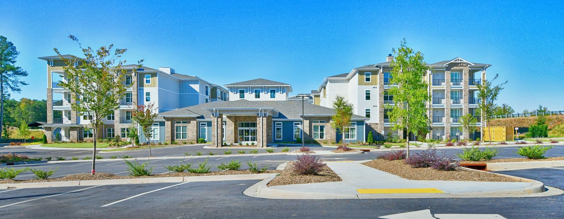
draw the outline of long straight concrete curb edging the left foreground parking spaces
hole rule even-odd
[[[23,182],[16,184],[0,184],[0,189],[22,189],[65,186],[97,186],[97,185],[123,185],[123,184],[148,184],[160,182],[204,182],[204,181],[231,181],[231,180],[264,180],[276,175],[274,173],[257,173],[222,176],[184,176],[184,177],[153,177],[153,178],[127,178],[117,180],[81,180],[61,182]]]

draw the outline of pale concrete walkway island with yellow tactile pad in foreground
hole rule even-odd
[[[366,161],[366,160],[365,160]],[[249,187],[246,195],[274,199],[351,199],[351,198],[475,198],[495,196],[535,196],[546,189],[539,181],[477,182],[407,180],[391,173],[361,164],[362,162],[328,162],[343,181],[270,186],[265,180]],[[492,173],[494,174],[494,173]],[[274,178],[274,177],[273,177]],[[399,189],[399,193],[364,194],[357,189]],[[401,193],[402,189],[420,189],[422,193]],[[423,189],[423,190],[421,190]],[[425,190],[443,193],[426,193]],[[253,191],[254,190],[254,191]],[[562,191],[562,190],[560,190]]]

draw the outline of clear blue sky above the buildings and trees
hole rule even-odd
[[[12,97],[46,98],[46,62],[37,57],[55,55],[54,47],[79,54],[67,32],[87,46],[127,48],[130,63],[145,59],[216,84],[266,78],[292,84],[290,95],[385,61],[405,37],[429,63],[460,56],[492,64],[488,78],[509,81],[499,103],[519,112],[539,104],[564,110],[559,1],[140,2],[1,3],[0,35],[29,73],[29,85]]]

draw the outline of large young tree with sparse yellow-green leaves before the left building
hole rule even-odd
[[[91,173],[94,175],[98,130],[103,126],[104,118],[118,108],[119,100],[125,95],[126,89],[131,87],[125,84],[125,74],[128,71],[121,68],[126,61],[117,60],[127,49],[112,51],[113,44],[110,44],[93,50],[90,47],[82,47],[74,35],[69,35],[69,38],[78,43],[84,57],[65,58],[57,48],[54,48],[57,55],[65,62],[63,69],[67,81],[61,80],[60,86],[70,91],[72,97],[77,100],[70,103],[71,108],[76,110],[78,115],[91,117],[94,144]],[[138,62],[139,68],[142,61]],[[135,75],[135,73],[136,70],[133,69],[131,74]]]

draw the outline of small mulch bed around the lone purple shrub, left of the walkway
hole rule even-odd
[[[337,173],[327,166],[321,169],[317,175],[299,175],[294,172],[293,162],[289,162],[283,171],[279,171],[279,175],[268,182],[267,186],[281,186],[290,184],[311,184],[315,182],[338,182],[342,181]]]

